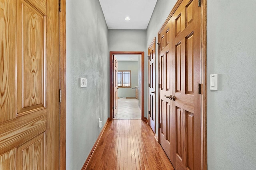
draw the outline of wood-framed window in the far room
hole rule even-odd
[[[131,71],[118,71],[117,72],[117,86],[130,88],[131,86]]]

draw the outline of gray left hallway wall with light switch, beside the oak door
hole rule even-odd
[[[98,118],[108,118],[108,28],[98,0],[67,0],[66,8],[66,169],[79,170],[102,130]]]

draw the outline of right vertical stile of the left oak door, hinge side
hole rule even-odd
[[[46,169],[59,169],[60,161],[60,18],[58,0],[46,3],[46,44],[47,48],[47,130],[46,130]]]

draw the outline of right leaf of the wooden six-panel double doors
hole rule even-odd
[[[201,169],[200,7],[183,0],[172,16],[172,121],[175,168]]]

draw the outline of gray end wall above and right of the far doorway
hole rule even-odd
[[[109,51],[144,51],[144,117],[148,116],[148,60],[146,49],[146,30],[132,30],[132,29],[109,29],[108,30],[108,50]],[[140,63],[140,61],[139,61]],[[139,71],[140,76],[140,71]],[[139,82],[139,93],[141,92]],[[140,94],[139,94],[140,96]],[[140,106],[139,98],[139,106]]]

